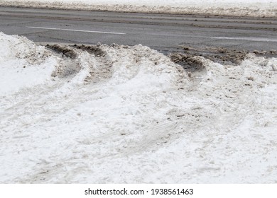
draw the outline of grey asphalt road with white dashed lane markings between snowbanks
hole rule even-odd
[[[276,50],[276,18],[60,11],[0,7],[0,31],[35,42]]]

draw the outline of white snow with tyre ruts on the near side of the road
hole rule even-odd
[[[1,183],[277,182],[276,58],[188,74],[141,45],[0,43]]]

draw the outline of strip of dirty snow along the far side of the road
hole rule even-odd
[[[0,5],[98,11],[277,16],[276,0],[0,0]]]

